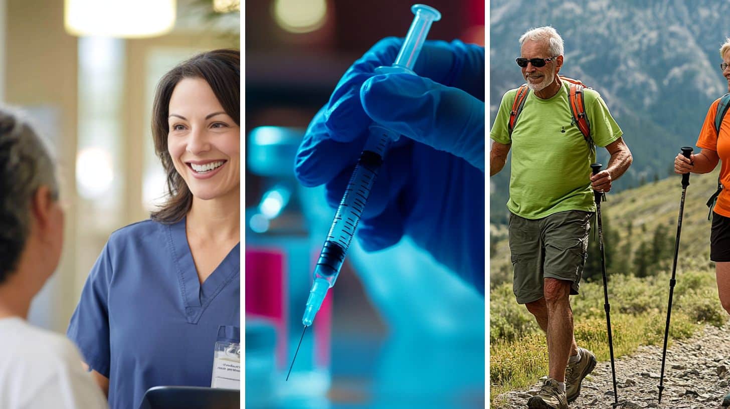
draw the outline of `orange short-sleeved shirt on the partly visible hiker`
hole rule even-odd
[[[720,134],[715,133],[715,114],[718,112],[718,104],[720,99],[712,102],[707,116],[704,117],[702,130],[699,131],[697,146],[715,150],[720,156],[720,183],[725,187],[718,196],[718,202],[715,204],[715,213],[730,217],[730,111],[723,118],[722,126],[720,126]]]

